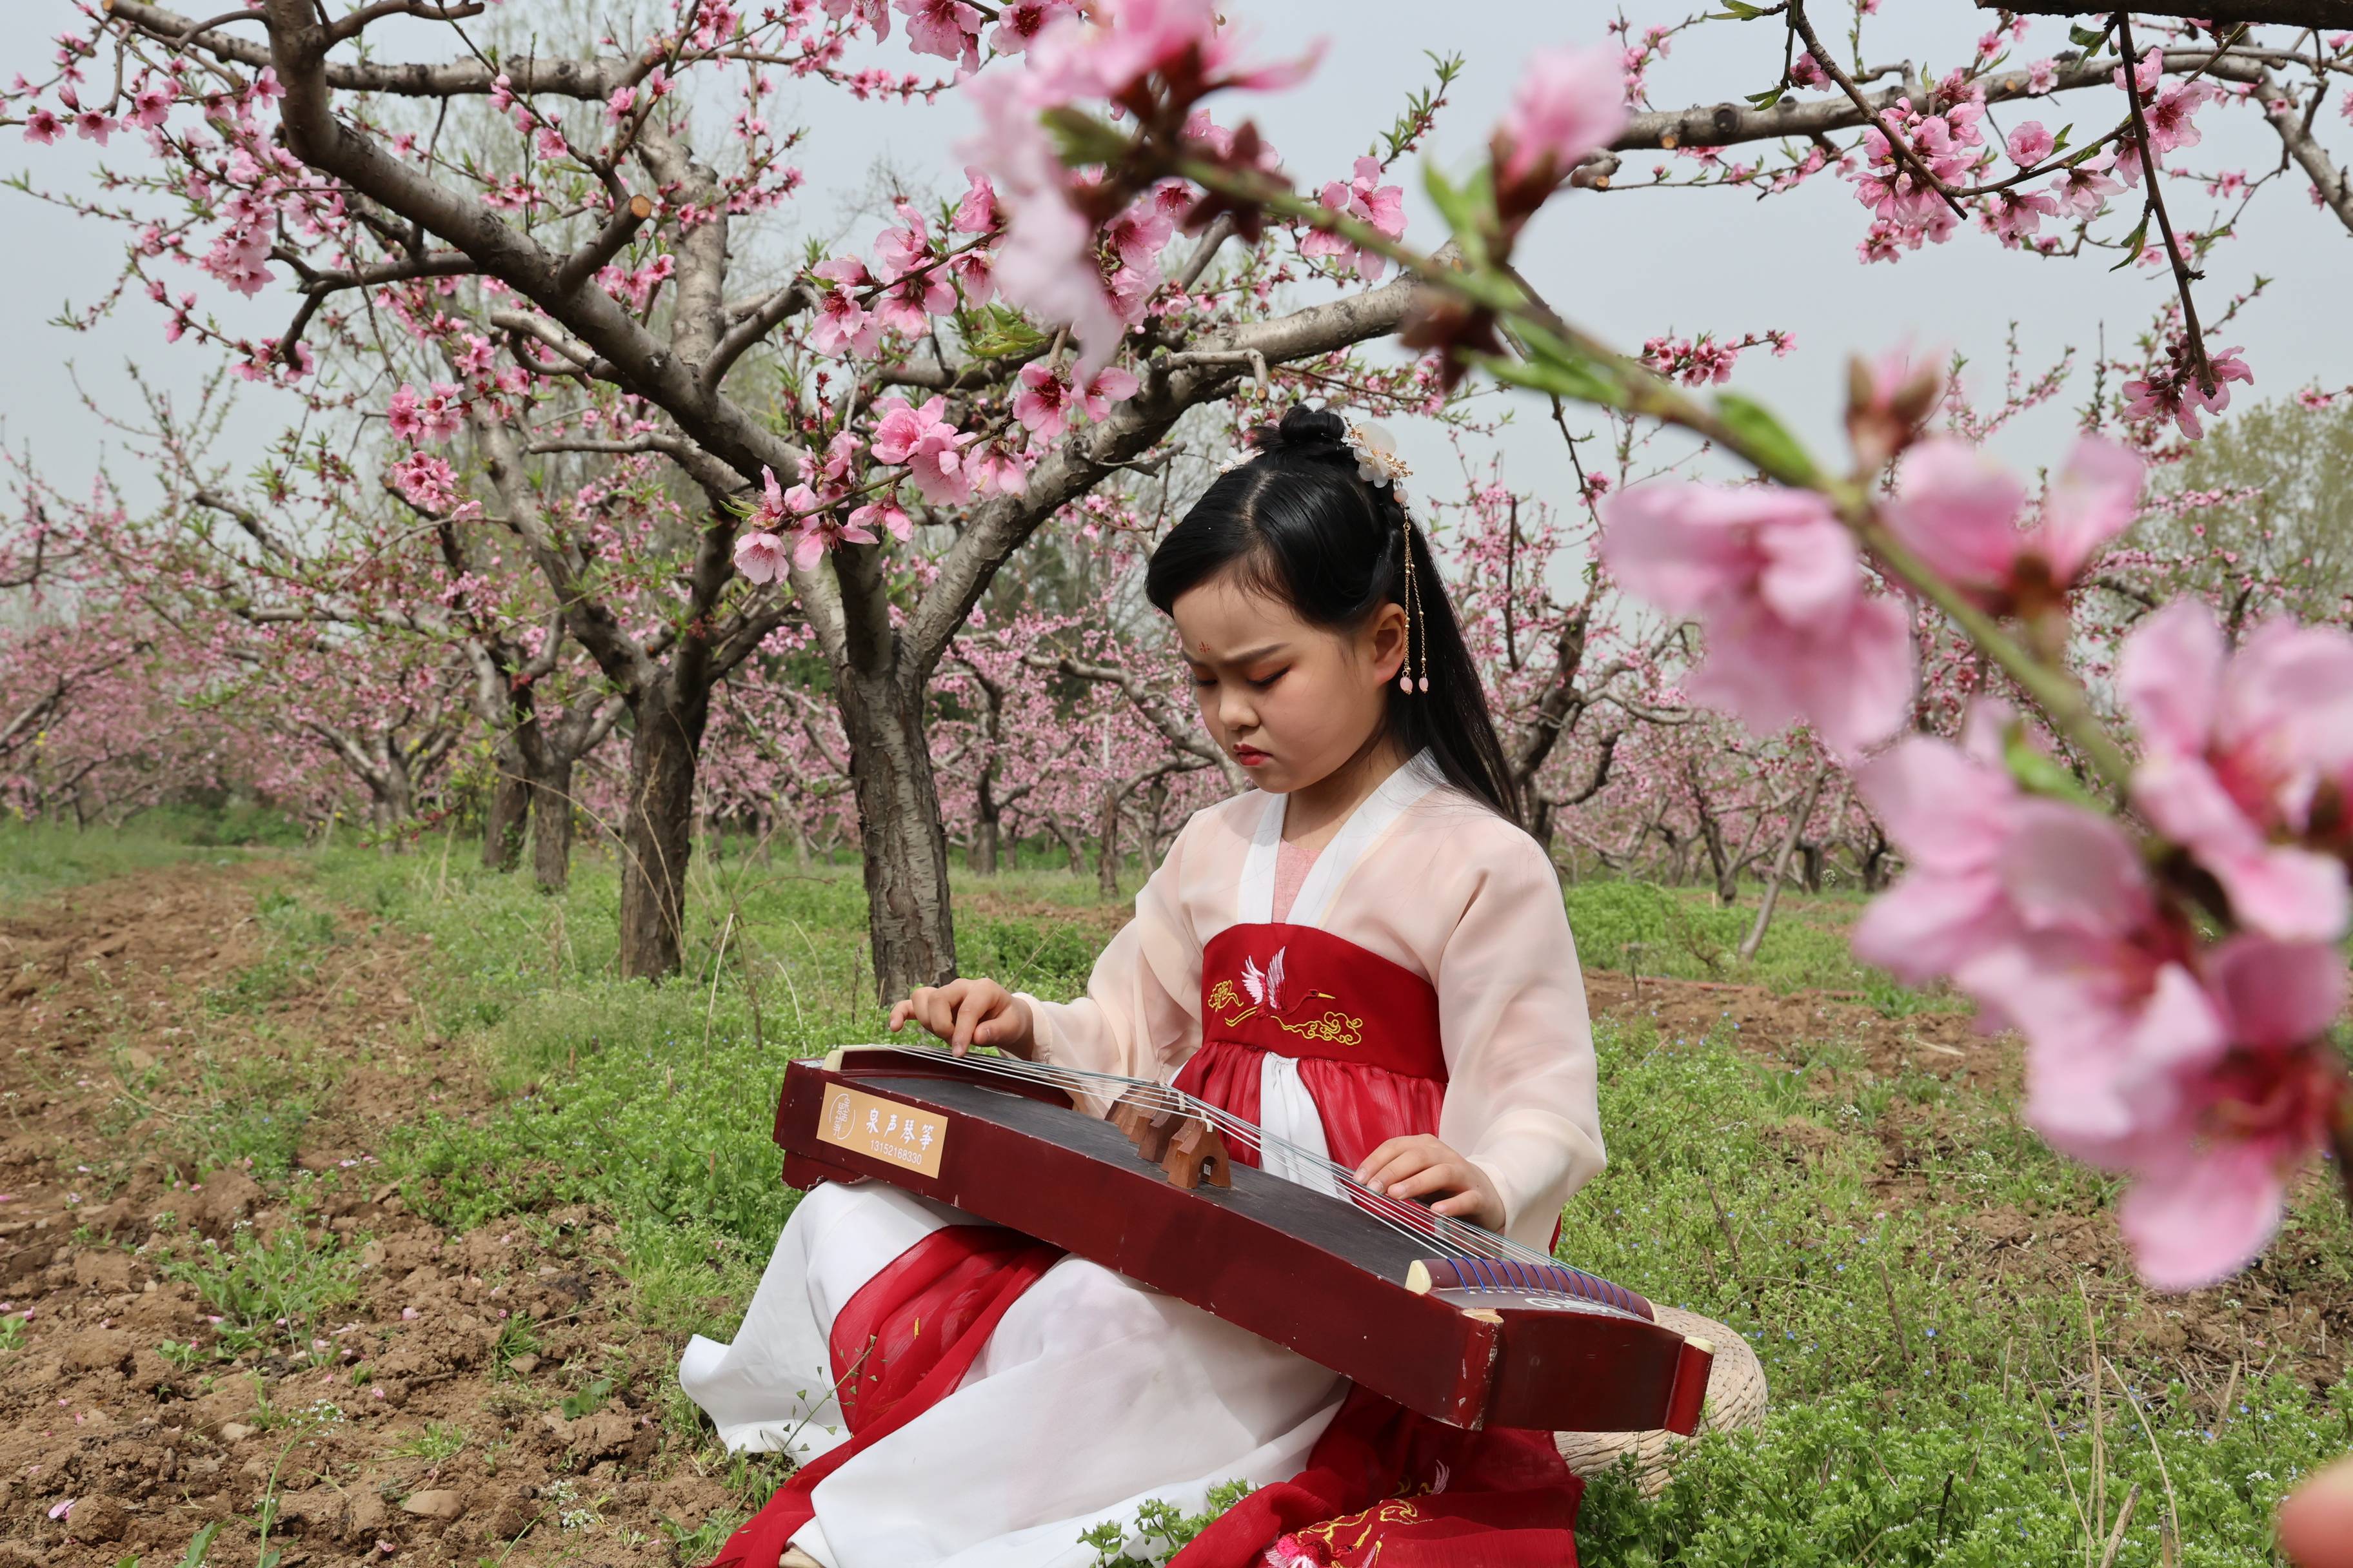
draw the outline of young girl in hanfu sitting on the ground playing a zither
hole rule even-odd
[[[1548,1248],[1602,1166],[1560,886],[1515,825],[1405,468],[1315,409],[1257,447],[1146,590],[1259,788],[1186,823],[1078,1001],[955,980],[892,1030],[1174,1081]],[[729,1448],[802,1460],[720,1563],[1089,1568],[1085,1530],[1134,1535],[1139,1505],[1202,1512],[1231,1481],[1259,1490],[1181,1568],[1574,1563],[1579,1493],[1548,1434],[1414,1418],[880,1182],[809,1192],[734,1345],[696,1338],[678,1378]]]

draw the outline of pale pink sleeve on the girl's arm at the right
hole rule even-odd
[[[1464,846],[1471,896],[1435,973],[1438,1135],[1494,1180],[1504,1232],[1548,1251],[1562,1204],[1602,1168],[1593,1025],[1551,860],[1508,823],[1489,832],[1492,851]]]

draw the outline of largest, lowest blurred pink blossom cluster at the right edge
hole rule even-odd
[[[1915,736],[1861,769],[1913,870],[1854,950],[1951,978],[2019,1030],[2026,1119],[2132,1178],[2141,1272],[2193,1288],[2271,1239],[2346,1095],[2327,1034],[2346,1006],[2353,637],[2273,623],[2233,654],[2212,611],[2177,602],[2120,675],[2144,741],[2132,804],[2160,849],[2019,788],[2002,715],[1979,710],[1962,745]]]

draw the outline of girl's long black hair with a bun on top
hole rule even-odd
[[[1278,425],[1257,428],[1259,454],[1219,475],[1169,529],[1144,571],[1144,592],[1172,614],[1181,595],[1235,571],[1242,585],[1289,604],[1301,621],[1351,630],[1384,604],[1405,607],[1405,552],[1412,550],[1431,689],[1388,689],[1388,733],[1407,757],[1426,748],[1449,783],[1520,823],[1487,691],[1431,545],[1391,487],[1358,477],[1346,435],[1339,414],[1306,404]],[[1407,670],[1419,675],[1412,663]]]

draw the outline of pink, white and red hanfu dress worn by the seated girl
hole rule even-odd
[[[1548,1248],[1602,1143],[1544,851],[1426,757],[1313,865],[1282,818],[1268,792],[1195,813],[1087,994],[1021,997],[1038,1056],[1174,1081],[1344,1166],[1435,1133],[1494,1180],[1504,1232]],[[1261,1490],[1181,1568],[1417,1568],[1464,1561],[1468,1530],[1485,1533],[1480,1563],[1574,1561],[1577,1481],[1544,1434],[1414,1418],[880,1182],[812,1190],[734,1342],[696,1335],[678,1380],[732,1450],[802,1460],[720,1563],[769,1568],[791,1542],[828,1568],[1092,1568],[1082,1533],[1132,1528],[1151,1500],[1198,1514],[1228,1481]]]

